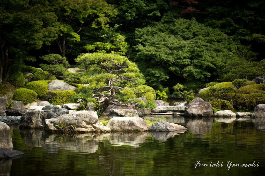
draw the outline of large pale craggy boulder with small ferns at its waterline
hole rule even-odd
[[[66,131],[71,131],[74,126],[76,127],[75,132],[111,132],[111,129],[98,122],[98,115],[95,111],[77,111],[54,119],[46,119],[44,121],[45,130],[59,132],[60,122],[66,124]]]

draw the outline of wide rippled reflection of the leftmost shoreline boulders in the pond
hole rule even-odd
[[[29,134],[30,133],[30,134]],[[57,152],[59,149],[82,151],[82,153],[95,153],[98,143],[110,134],[49,134],[41,130],[20,130],[25,143],[35,147],[43,147],[48,152]],[[27,136],[27,137],[24,137]]]

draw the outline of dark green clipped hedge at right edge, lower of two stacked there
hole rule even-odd
[[[237,94],[233,104],[237,108],[254,110],[256,105],[265,104],[265,94]]]

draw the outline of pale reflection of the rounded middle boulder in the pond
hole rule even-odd
[[[139,146],[146,140],[147,133],[111,133],[108,136],[109,142],[115,145]]]

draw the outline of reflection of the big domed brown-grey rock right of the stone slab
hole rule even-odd
[[[185,118],[184,126],[193,133],[202,134],[203,132],[211,130],[213,121],[213,117]]]

